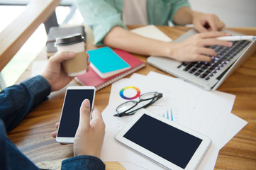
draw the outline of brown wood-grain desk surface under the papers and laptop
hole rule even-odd
[[[129,28],[136,27],[130,26]],[[173,40],[189,29],[167,26],[158,28]],[[256,28],[230,28],[230,30],[256,35]],[[87,50],[92,48],[95,48],[94,45],[89,44]],[[46,58],[46,53],[42,54]],[[135,56],[146,62],[147,57]],[[169,75],[149,64],[137,73],[145,75],[150,71]],[[19,81],[30,77],[28,73],[30,73],[30,68]],[[72,85],[79,84],[72,81],[69,86]],[[108,105],[110,90],[111,86],[107,86],[96,92],[95,106],[101,111]],[[218,91],[236,95],[232,113],[246,120],[248,124],[221,149],[215,169],[256,169],[256,54],[226,79]],[[42,168],[59,169],[62,159],[73,156],[72,145],[59,145],[51,137],[51,132],[55,131],[55,123],[60,119],[64,96],[65,89],[50,94],[47,101],[35,108],[15,129],[9,132],[10,139],[18,149]],[[123,167],[118,162],[106,162],[106,169],[123,169]]]

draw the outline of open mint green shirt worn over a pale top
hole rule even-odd
[[[104,45],[103,39],[114,27],[123,23],[123,0],[75,0],[84,23],[94,31],[94,43]],[[179,8],[189,6],[187,0],[147,0],[148,23],[168,26]]]

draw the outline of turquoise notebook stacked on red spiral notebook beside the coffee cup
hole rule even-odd
[[[87,52],[89,72],[75,79],[84,86],[95,86],[96,91],[145,67],[144,62],[123,50],[101,47]]]

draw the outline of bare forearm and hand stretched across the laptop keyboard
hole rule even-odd
[[[110,47],[119,48],[139,55],[154,55],[169,57],[174,60],[194,62],[209,62],[211,57],[217,53],[209,48],[208,45],[231,46],[232,42],[216,40],[218,36],[229,35],[223,32],[208,32],[194,35],[183,42],[162,42],[145,38],[130,32],[129,30],[114,27],[104,38],[104,43]]]

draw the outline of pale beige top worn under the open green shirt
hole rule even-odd
[[[147,0],[123,0],[123,23],[148,25]]]

